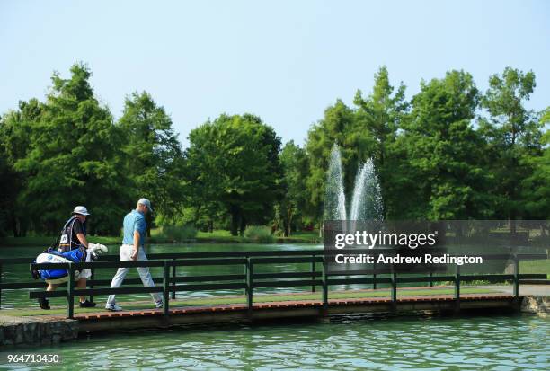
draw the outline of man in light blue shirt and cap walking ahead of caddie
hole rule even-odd
[[[146,220],[145,216],[148,212],[152,212],[151,202],[148,199],[139,199],[135,210],[130,211],[124,217],[123,229],[124,237],[120,246],[120,261],[146,261],[147,257],[144,251],[145,236],[146,236]],[[117,273],[112,278],[111,288],[120,287],[122,281],[128,274],[129,268],[119,268]],[[154,287],[155,283],[151,277],[148,267],[137,267],[137,273],[141,278],[141,282],[146,287]],[[163,298],[159,293],[151,293],[155,306],[163,307]],[[122,307],[115,303],[115,296],[110,295],[107,298],[105,309],[110,311],[121,311]]]

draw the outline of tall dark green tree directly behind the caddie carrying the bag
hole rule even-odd
[[[71,67],[71,77],[55,73],[53,87],[43,104],[30,102],[32,115],[22,108],[13,119],[14,132],[29,129],[28,149],[21,137],[13,143],[13,168],[25,181],[18,203],[29,210],[36,231],[54,234],[75,205],[93,211],[91,233],[116,233],[120,205],[124,201],[125,175],[120,171],[120,132],[111,112],[101,107],[89,84],[90,70],[83,64]],[[19,124],[22,128],[16,128]],[[18,157],[18,158],[16,158]]]

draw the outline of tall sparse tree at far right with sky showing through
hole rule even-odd
[[[524,107],[536,86],[535,74],[506,67],[502,75],[492,75],[483,95],[483,108],[490,117],[482,119],[480,131],[489,143],[490,171],[495,176],[492,192],[499,196],[497,214],[509,218],[515,232],[515,220],[525,214],[520,183],[533,169],[521,164],[521,158],[540,153],[540,125],[534,112]]]

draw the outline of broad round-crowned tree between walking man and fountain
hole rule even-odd
[[[273,216],[281,197],[280,139],[250,114],[219,116],[191,131],[185,153],[191,204],[217,204],[231,216],[231,234]]]

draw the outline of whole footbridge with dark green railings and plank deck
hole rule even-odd
[[[387,250],[357,251],[357,253],[384,253]],[[260,251],[260,252],[184,252],[150,254],[149,261],[119,261],[118,255],[102,256],[100,261],[88,263],[32,264],[33,258],[7,258],[0,260],[3,267],[13,264],[30,264],[30,269],[65,267],[69,279],[66,287],[53,292],[44,291],[42,281],[4,282],[2,290],[29,290],[29,298],[66,297],[65,314],[55,311],[35,311],[46,319],[73,319],[79,322],[79,331],[118,330],[167,326],[172,324],[255,321],[288,317],[324,317],[331,314],[400,313],[408,311],[438,311],[457,313],[471,309],[519,309],[519,285],[542,280],[545,274],[521,274],[519,261],[547,259],[546,254],[492,254],[486,260],[511,260],[510,274],[461,274],[460,266],[452,267],[452,274],[437,270],[399,272],[393,264],[352,272],[331,271],[328,261],[332,257],[324,250]],[[292,266],[292,271],[265,272],[271,266]],[[155,277],[155,287],[141,286],[139,278],[127,278],[124,287],[111,288],[111,279],[94,278],[99,269],[120,267],[150,267],[162,270]],[[233,267],[231,274],[180,275],[182,267],[223,268]],[[75,287],[75,270],[92,269],[88,288]],[[488,289],[465,287],[473,281],[504,282],[512,287],[511,294]],[[445,285],[441,285],[445,283]],[[421,287],[411,287],[420,284]],[[139,285],[129,287],[130,285]],[[359,285],[359,288],[358,288]],[[365,288],[368,286],[368,288]],[[406,287],[405,287],[406,286]],[[259,290],[294,287],[295,293],[266,294]],[[176,298],[176,293],[235,290],[242,295],[210,296],[207,300]],[[296,291],[295,290],[295,291]],[[164,308],[132,308],[123,312],[105,312],[102,308],[82,310],[76,308],[75,296],[107,296],[110,294],[159,293],[164,296]],[[34,303],[33,303],[34,305]],[[147,305],[147,304],[146,304]],[[36,305],[35,305],[36,306]],[[137,305],[139,306],[139,305]],[[18,309],[15,311],[21,311]],[[2,310],[13,315],[13,310]],[[24,312],[24,311],[22,311]],[[28,315],[28,314],[27,314]]]

